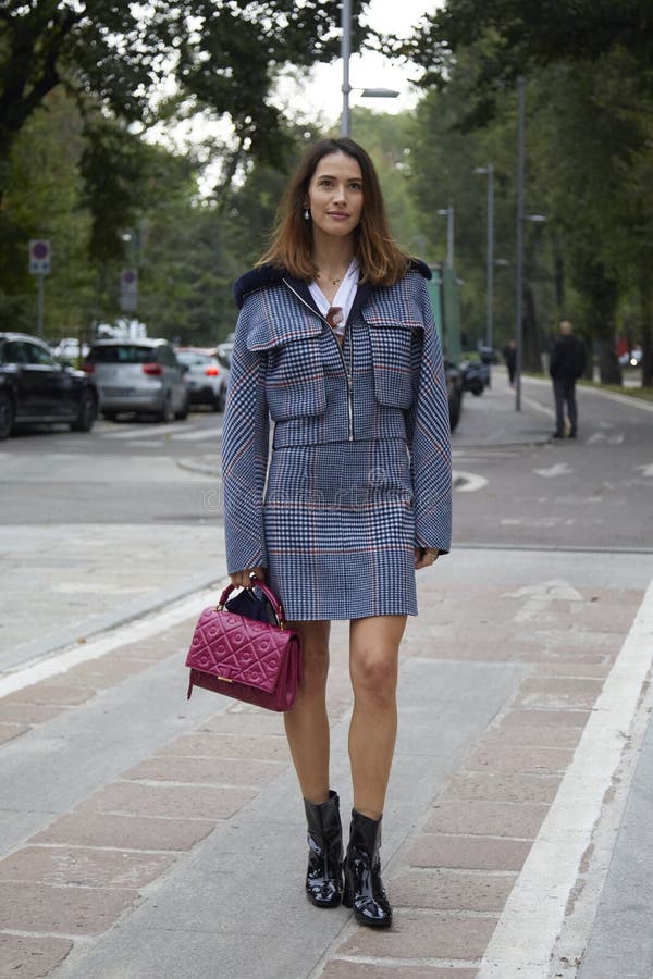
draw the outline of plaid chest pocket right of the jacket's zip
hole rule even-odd
[[[401,323],[370,323],[369,327],[377,400],[390,408],[410,408],[412,327]]]

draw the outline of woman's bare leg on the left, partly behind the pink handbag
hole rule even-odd
[[[304,650],[304,677],[284,723],[301,795],[320,805],[329,798],[329,673],[330,622],[291,622]]]

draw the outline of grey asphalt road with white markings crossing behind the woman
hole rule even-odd
[[[653,548],[653,405],[579,392],[579,438],[552,442],[551,389],[526,381],[523,411],[501,369],[467,395],[453,439],[455,544]],[[99,421],[0,447],[4,525],[222,522],[222,416]]]

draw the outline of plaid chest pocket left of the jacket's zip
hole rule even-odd
[[[266,394],[273,421],[322,414],[326,410],[319,337],[268,348]]]

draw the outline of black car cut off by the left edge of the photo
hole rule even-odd
[[[0,438],[15,425],[67,423],[90,432],[98,413],[94,381],[54,360],[42,340],[0,333]]]

